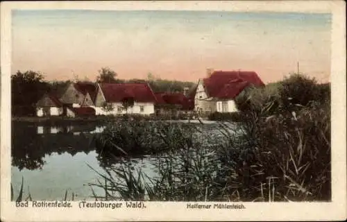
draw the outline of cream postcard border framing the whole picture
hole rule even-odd
[[[298,221],[346,219],[346,17],[344,1],[49,1],[1,3],[1,221]],[[332,202],[244,203],[246,210],[189,210],[146,203],[146,210],[19,210],[10,203],[11,9],[232,10],[332,13]]]

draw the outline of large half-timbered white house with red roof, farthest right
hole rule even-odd
[[[194,96],[197,112],[237,112],[235,97],[246,87],[264,86],[254,71],[213,71],[198,80]]]

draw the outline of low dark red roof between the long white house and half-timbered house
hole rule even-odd
[[[155,93],[155,97],[157,98],[157,104],[159,105],[181,105],[183,110],[194,108],[194,100],[189,99],[183,93],[158,92]]]

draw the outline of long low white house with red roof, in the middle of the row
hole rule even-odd
[[[100,114],[153,114],[157,103],[147,83],[98,83],[93,107]]]

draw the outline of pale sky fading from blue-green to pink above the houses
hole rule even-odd
[[[12,72],[46,80],[154,76],[197,82],[207,69],[255,71],[264,83],[297,70],[330,80],[331,15],[285,12],[13,10]]]

